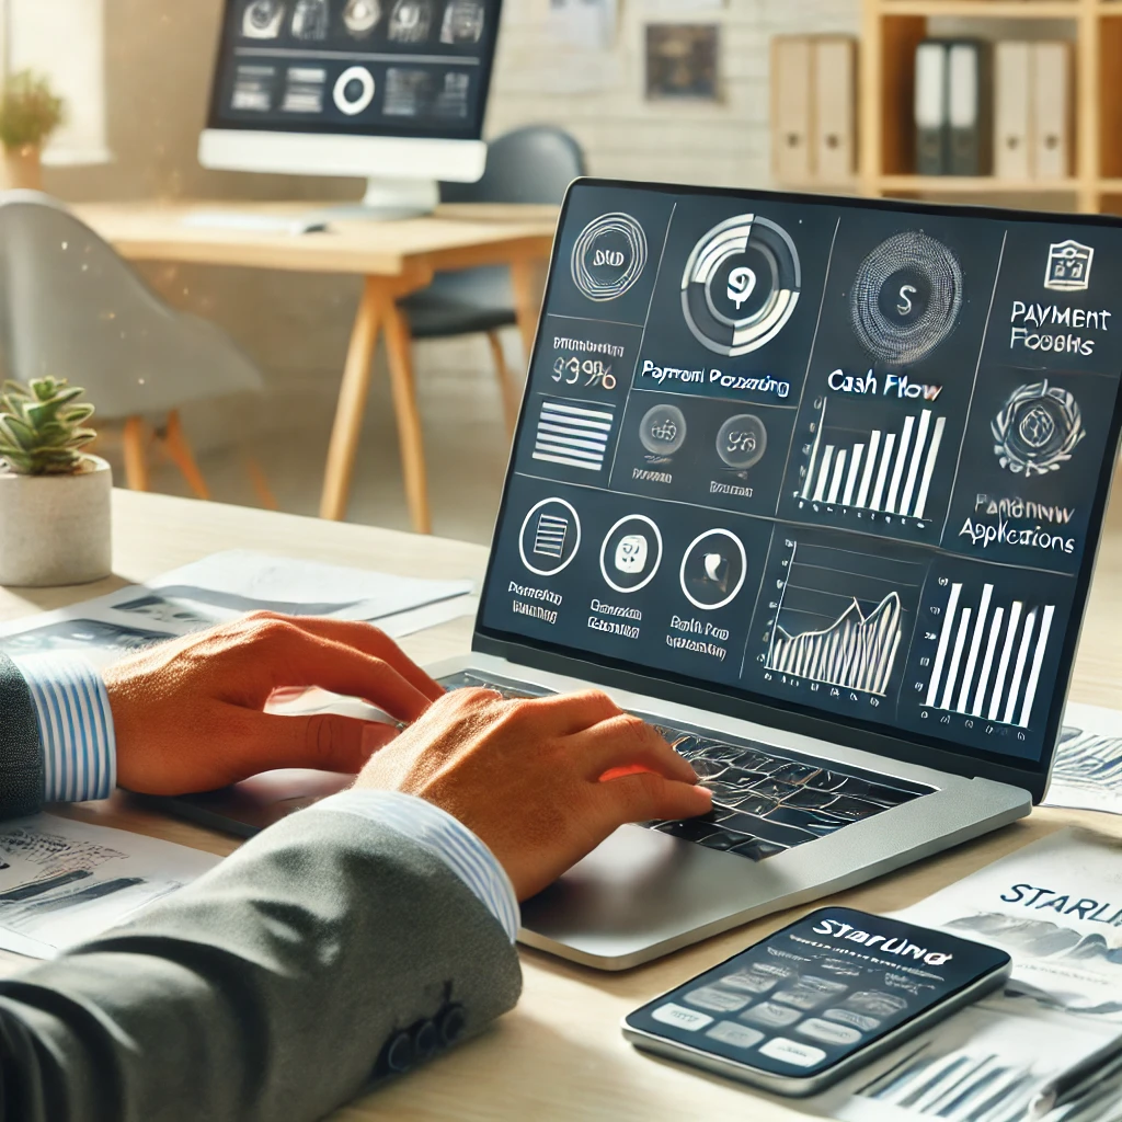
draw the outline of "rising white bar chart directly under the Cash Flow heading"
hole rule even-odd
[[[899,426],[855,431],[827,422],[828,404],[824,397],[799,497],[922,522],[946,417],[921,410]]]

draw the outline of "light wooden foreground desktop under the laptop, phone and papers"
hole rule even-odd
[[[221,549],[251,546],[292,557],[383,569],[420,577],[472,577],[486,551],[459,542],[433,542],[367,526],[314,523],[237,507],[118,491],[114,497],[116,570],[142,580]],[[84,589],[17,595],[0,589],[0,618],[110,591],[119,579]],[[1076,664],[1073,698],[1122,707],[1116,626],[1122,618],[1122,502],[1115,504],[1092,590]],[[405,640],[420,661],[462,652],[469,620],[457,620]],[[75,816],[156,835],[214,853],[229,853],[226,837],[164,819],[123,797],[74,808]],[[888,911],[901,908],[982,865],[1063,826],[1082,824],[1122,839],[1122,819],[1063,810],[1038,810],[1028,820],[940,857],[883,877],[834,902]],[[604,974],[532,950],[522,951],[525,993],[518,1008],[480,1039],[339,1112],[339,1122],[457,1119],[459,1122],[688,1122],[692,1119],[801,1119],[798,1103],[782,1103],[717,1078],[652,1060],[619,1034],[619,1018],[789,922],[798,909],[709,939],[661,962],[624,974]],[[13,956],[8,956],[15,960]],[[10,967],[9,967],[10,968]]]

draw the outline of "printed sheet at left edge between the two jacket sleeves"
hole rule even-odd
[[[0,947],[54,958],[190,884],[213,854],[36,815],[0,827]]]

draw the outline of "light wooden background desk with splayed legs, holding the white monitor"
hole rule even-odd
[[[440,270],[507,265],[526,353],[537,328],[535,264],[549,257],[557,208],[484,203],[441,208],[431,218],[401,222],[331,222],[310,234],[261,233],[188,226],[192,211],[296,217],[320,208],[309,203],[98,203],[74,208],[117,251],[134,261],[233,265],[296,273],[348,273],[366,277],[339,389],[328,451],[320,514],[347,512],[355,454],[370,388],[371,359],[385,332],[402,469],[413,527],[429,533],[421,417],[413,381],[408,323],[397,302],[423,288]]]

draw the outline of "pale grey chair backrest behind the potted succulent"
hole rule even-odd
[[[168,307],[112,247],[34,191],[0,194],[0,355],[8,377],[84,386],[107,420],[264,388],[221,330]]]

